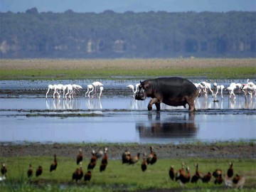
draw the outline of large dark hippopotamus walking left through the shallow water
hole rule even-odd
[[[135,100],[146,100],[151,97],[148,110],[152,110],[152,105],[156,105],[156,111],[160,111],[160,103],[166,105],[189,106],[189,112],[195,111],[194,101],[198,96],[198,89],[193,82],[184,78],[156,78],[140,82],[139,90],[135,95]]]

